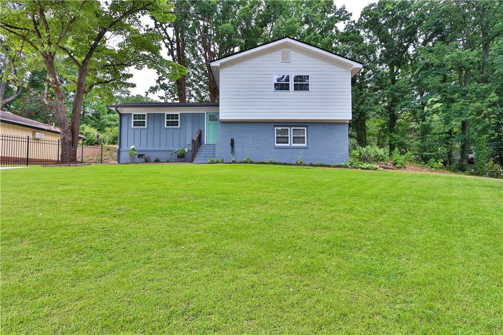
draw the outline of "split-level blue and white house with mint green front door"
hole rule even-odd
[[[183,147],[191,160],[199,130],[195,162],[349,160],[351,78],[363,64],[286,37],[210,66],[219,103],[109,106],[119,113],[119,162],[128,161],[131,145],[136,161],[141,155],[176,160],[173,150]]]

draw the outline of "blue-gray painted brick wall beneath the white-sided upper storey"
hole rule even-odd
[[[275,126],[307,127],[306,147],[277,147],[274,143]],[[317,122],[220,122],[215,158],[230,161],[230,139],[234,138],[234,157],[254,161],[274,159],[294,163],[301,153],[304,163],[323,162],[340,164],[349,161],[348,123]]]

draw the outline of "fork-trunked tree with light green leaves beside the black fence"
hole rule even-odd
[[[105,7],[107,6],[107,7]],[[174,19],[171,8],[157,1],[124,1],[107,5],[97,1],[22,2],[2,6],[0,28],[9,36],[9,48],[22,44],[36,54],[47,70],[44,80],[53,92],[44,102],[54,109],[61,128],[61,162],[76,161],[83,97],[93,89],[113,88],[125,79],[130,66],[148,66],[170,73],[176,79],[185,69],[160,55],[160,37],[141,33],[141,15],[161,22]],[[66,71],[57,66],[56,57]],[[76,75],[74,74],[76,72]],[[71,96],[63,90],[67,78]],[[68,120],[65,102],[71,99]]]

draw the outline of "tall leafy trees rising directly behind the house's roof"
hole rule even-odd
[[[331,1],[187,1],[175,2],[177,20],[155,24],[166,36],[165,47],[176,62],[189,69],[184,85],[159,76],[150,92],[164,99],[216,101],[218,90],[209,63],[231,53],[290,36],[332,50],[338,44],[337,24],[349,20],[345,8]],[[183,42],[182,35],[183,32]],[[184,90],[181,90],[181,88]],[[201,95],[201,87],[206,94]],[[189,92],[187,94],[187,92]]]

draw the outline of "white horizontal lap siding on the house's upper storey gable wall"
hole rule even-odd
[[[291,49],[220,69],[220,120],[351,120],[351,72]],[[271,89],[275,74],[309,75],[309,91]]]

